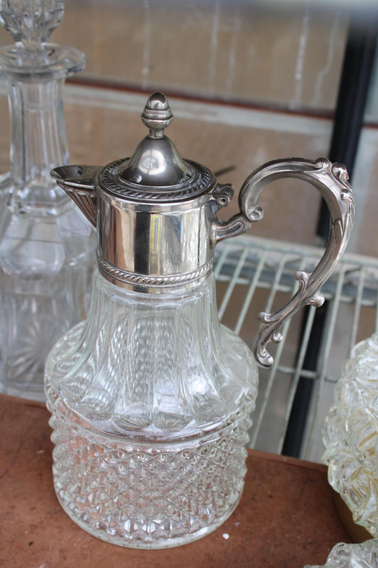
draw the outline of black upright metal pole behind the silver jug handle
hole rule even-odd
[[[376,53],[377,23],[376,14],[371,14],[368,19],[364,20],[358,20],[351,16],[347,35],[329,159],[332,162],[345,164],[350,179],[354,170]],[[328,238],[328,233],[329,214],[325,201],[322,200],[317,235],[324,240],[324,244]],[[327,310],[327,302],[316,310],[304,358],[303,369],[305,370],[314,371],[317,369]],[[300,337],[303,336],[307,316],[308,309],[304,313]],[[282,453],[286,456],[300,456],[313,387],[313,379],[300,377],[282,448]]]

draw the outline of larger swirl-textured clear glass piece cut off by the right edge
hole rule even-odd
[[[378,536],[378,333],[354,346],[323,428],[328,481],[356,524]]]

